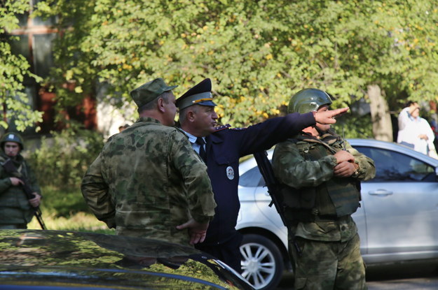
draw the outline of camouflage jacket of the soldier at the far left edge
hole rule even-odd
[[[6,159],[8,156],[1,152],[0,162],[3,163]],[[34,173],[20,154],[13,163],[18,168],[18,175],[6,173],[3,166],[0,166],[0,224],[27,224],[32,220],[34,210],[24,189],[13,186],[9,177],[25,177],[34,192],[41,195],[41,190]]]

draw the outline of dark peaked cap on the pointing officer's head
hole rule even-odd
[[[210,78],[206,78],[198,83],[198,85],[195,85],[177,99],[177,107],[179,110],[192,105],[216,106],[216,104],[213,103],[212,81]]]

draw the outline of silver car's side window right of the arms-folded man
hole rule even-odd
[[[371,147],[355,148],[374,160],[376,177],[369,182],[382,181],[434,181],[433,166],[399,152]]]

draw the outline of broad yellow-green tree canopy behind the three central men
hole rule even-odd
[[[40,6],[60,16],[64,31],[53,82],[76,85],[57,85],[60,101],[80,99],[96,83],[121,104],[152,78],[179,84],[177,94],[212,78],[221,122],[245,126],[279,115],[305,87],[327,90],[334,106],[370,101],[369,87],[388,108],[401,96],[437,93],[437,10],[425,0],[54,3]],[[388,112],[382,117],[387,123]]]

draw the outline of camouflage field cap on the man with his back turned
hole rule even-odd
[[[137,106],[141,108],[146,105],[146,103],[153,101],[164,92],[168,92],[175,87],[178,86],[168,86],[162,78],[156,78],[155,80],[151,80],[150,82],[146,82],[146,84],[137,87],[137,89],[133,89],[130,92],[130,95]]]

